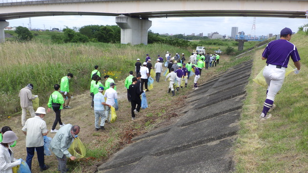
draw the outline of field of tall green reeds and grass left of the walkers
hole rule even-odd
[[[164,57],[166,51],[173,55],[188,50],[165,45],[130,45],[109,43],[53,44],[32,41],[27,43],[6,42],[0,44],[0,115],[20,111],[18,93],[28,83],[34,85],[34,94],[40,103],[45,103],[53,90],[68,72],[73,73],[70,91],[88,90],[90,72],[99,65],[101,74],[109,74],[114,80],[123,80],[139,58],[145,61],[146,54],[152,60],[157,55]],[[155,61],[154,61],[155,62]]]

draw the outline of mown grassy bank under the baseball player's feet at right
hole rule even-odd
[[[292,36],[301,56],[301,72],[291,73],[277,94],[272,118],[259,121],[266,88],[252,79],[264,67],[263,49],[253,55],[252,76],[247,86],[241,130],[235,148],[237,172],[308,172],[308,36],[298,32]],[[295,67],[291,61],[290,65]]]

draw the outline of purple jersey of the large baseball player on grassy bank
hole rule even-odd
[[[301,60],[295,45],[283,39],[268,43],[262,53],[262,57],[267,58],[266,64],[283,67],[287,67],[290,56],[293,62]]]

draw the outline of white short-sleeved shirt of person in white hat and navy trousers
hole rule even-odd
[[[46,122],[41,117],[35,116],[27,119],[22,131],[26,131],[26,147],[44,146],[43,133],[47,133]]]

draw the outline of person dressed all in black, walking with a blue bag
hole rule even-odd
[[[140,87],[137,85],[137,78],[132,78],[132,84],[129,86],[129,93],[131,96],[131,106],[132,106],[132,120],[135,119],[135,115],[138,115],[141,107],[141,98],[140,94],[145,91],[140,90]],[[136,108],[137,106],[137,108]]]

